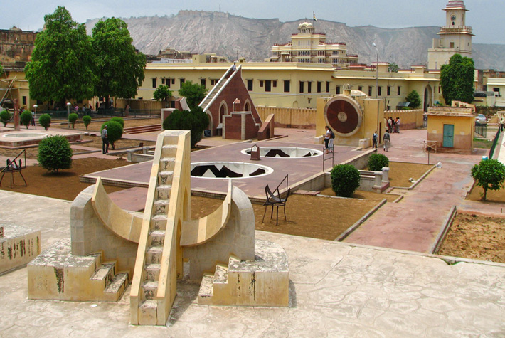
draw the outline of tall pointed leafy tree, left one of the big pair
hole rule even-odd
[[[85,25],[73,21],[63,6],[44,16],[44,21],[45,29],[37,34],[25,68],[30,96],[60,103],[92,97],[96,76]]]

